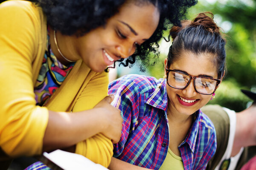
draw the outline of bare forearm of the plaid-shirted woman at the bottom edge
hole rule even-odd
[[[129,164],[125,161],[121,161],[114,157],[112,157],[111,163],[110,163],[108,169],[110,169],[110,170],[149,170],[148,168],[139,167],[139,166],[136,166],[133,164]]]

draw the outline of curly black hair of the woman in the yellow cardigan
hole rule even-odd
[[[106,21],[118,12],[128,0],[30,0],[37,3],[47,15],[48,24],[61,31],[62,34],[73,35],[79,32],[83,35],[88,31],[104,26]],[[134,64],[136,57],[143,66],[154,65],[159,56],[158,42],[163,31],[170,28],[170,24],[180,25],[180,20],[186,14],[186,9],[197,3],[197,0],[134,0],[134,2],[152,3],[160,11],[157,29],[149,40],[137,47],[133,55],[120,64],[128,66]],[[148,57],[148,56],[151,57]],[[151,62],[149,62],[151,60]]]

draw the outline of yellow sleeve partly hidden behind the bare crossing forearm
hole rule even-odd
[[[93,108],[108,94],[108,73],[97,73],[84,88],[73,111]],[[102,133],[96,134],[76,145],[76,153],[95,163],[108,167],[113,156],[113,143]]]

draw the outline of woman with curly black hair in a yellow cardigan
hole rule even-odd
[[[108,167],[122,129],[106,96],[115,61],[147,63],[196,0],[10,0],[0,4],[0,150],[69,147]],[[128,60],[123,59],[131,56]],[[73,113],[70,113],[73,112]],[[93,151],[92,151],[93,150]]]

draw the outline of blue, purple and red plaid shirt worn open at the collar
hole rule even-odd
[[[169,147],[166,79],[130,74],[111,82],[109,94],[115,95],[112,105],[121,110],[124,119],[121,139],[114,144],[114,157],[159,169]],[[215,129],[200,110],[178,148],[185,170],[205,169],[214,155]]]

